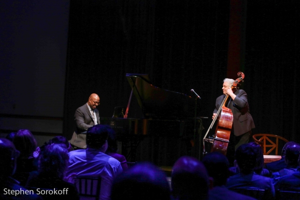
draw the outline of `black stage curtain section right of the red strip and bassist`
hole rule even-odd
[[[257,133],[300,142],[300,3],[248,1],[245,80]]]

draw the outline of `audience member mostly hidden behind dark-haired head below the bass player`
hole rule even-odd
[[[249,142],[249,145],[253,146],[253,150],[256,154],[256,165],[254,167],[254,172],[259,175],[270,177],[270,172],[263,168],[263,152],[261,146],[255,142]],[[234,161],[234,166],[229,167],[230,176],[239,173],[238,167],[236,166],[236,161]]]

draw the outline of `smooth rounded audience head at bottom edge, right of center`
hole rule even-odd
[[[181,156],[173,165],[171,175],[174,199],[207,199],[208,173],[204,164],[191,156]]]

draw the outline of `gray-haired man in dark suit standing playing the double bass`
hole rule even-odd
[[[231,109],[233,115],[232,128],[226,153],[230,164],[233,164],[235,149],[239,145],[249,141],[251,129],[255,127],[252,116],[249,113],[247,93],[242,89],[232,91],[231,86],[233,82],[234,80],[229,78],[223,80],[223,94],[216,98],[215,109],[212,114],[212,119],[214,119],[225,95],[228,94],[226,107]]]

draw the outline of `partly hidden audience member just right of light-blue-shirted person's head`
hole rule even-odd
[[[117,148],[117,143],[115,138],[116,137],[115,131],[109,125],[104,125],[104,126],[107,128],[108,131],[108,138],[107,138],[108,147],[105,153],[117,159],[121,163],[123,171],[125,171],[128,168],[127,160],[124,155],[117,153],[118,148]]]

